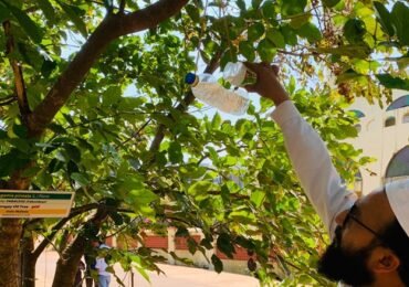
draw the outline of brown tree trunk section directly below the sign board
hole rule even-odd
[[[21,286],[20,238],[22,222],[18,219],[3,219],[0,222],[0,286]]]

